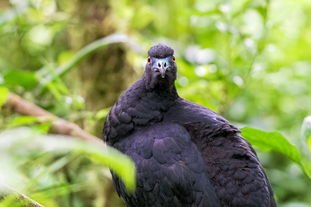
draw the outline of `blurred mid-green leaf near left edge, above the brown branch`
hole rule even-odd
[[[17,70],[10,70],[4,75],[5,84],[11,86],[22,86],[26,90],[30,90],[37,84],[35,73],[20,72]]]

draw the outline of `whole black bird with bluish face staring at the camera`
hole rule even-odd
[[[142,77],[106,117],[103,139],[136,165],[134,194],[112,173],[128,207],[274,207],[253,147],[216,112],[178,96],[174,50],[148,51]]]

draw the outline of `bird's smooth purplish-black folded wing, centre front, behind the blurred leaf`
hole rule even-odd
[[[117,191],[128,206],[219,206],[202,156],[179,124],[153,124],[114,147],[136,163],[134,195],[128,195],[123,182],[114,176]]]

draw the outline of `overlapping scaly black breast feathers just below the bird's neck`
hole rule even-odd
[[[129,88],[106,117],[104,141],[113,144],[133,131],[162,121],[163,114],[174,105],[175,99],[165,94],[169,93],[160,94],[140,86]]]

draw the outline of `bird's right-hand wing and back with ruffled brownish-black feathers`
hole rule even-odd
[[[182,125],[205,158],[207,175],[221,202],[275,207],[272,188],[252,146],[240,130],[204,106],[179,99],[164,121]]]

